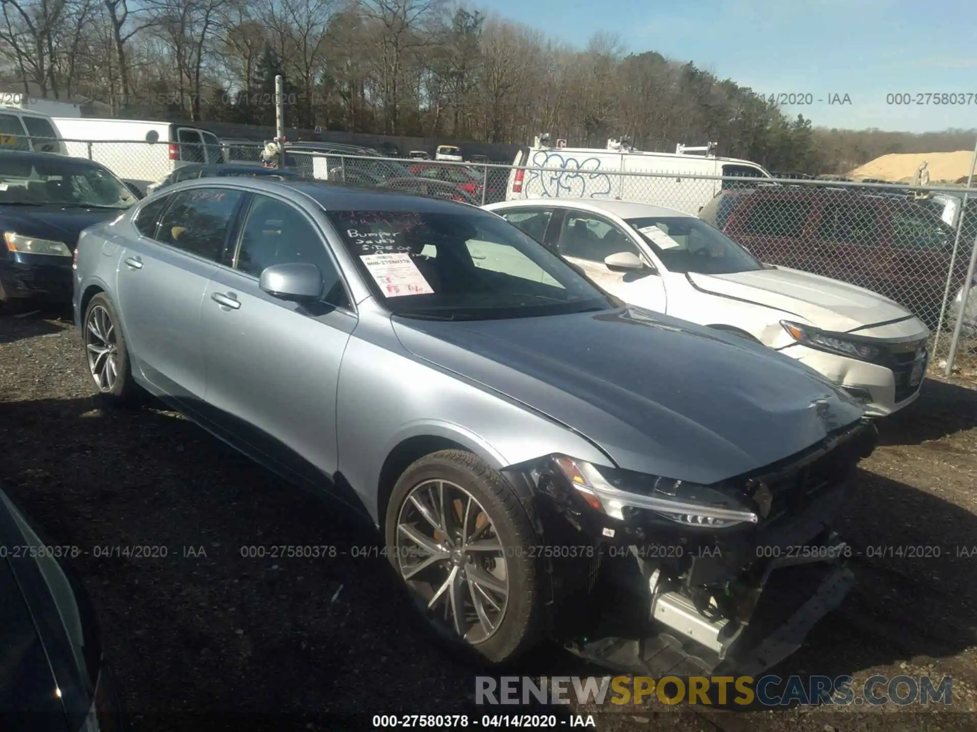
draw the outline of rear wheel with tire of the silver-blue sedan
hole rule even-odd
[[[127,402],[139,391],[132,378],[129,351],[118,325],[115,308],[105,293],[92,298],[85,308],[82,341],[88,373],[108,402]]]

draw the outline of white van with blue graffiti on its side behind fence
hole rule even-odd
[[[749,160],[717,157],[715,144],[701,147],[678,145],[675,152],[643,152],[609,140],[604,149],[540,144],[516,153],[509,173],[507,201],[520,198],[615,198],[667,206],[698,215],[722,188],[735,181],[712,181],[689,176],[737,176],[771,178],[762,166]],[[515,167],[524,170],[515,170]],[[533,168],[563,168],[566,173]],[[608,175],[610,173],[658,173],[666,176]]]

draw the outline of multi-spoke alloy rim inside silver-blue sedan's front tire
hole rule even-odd
[[[509,599],[505,550],[472,494],[447,480],[414,486],[396,550],[404,582],[436,627],[472,644],[498,630]]]

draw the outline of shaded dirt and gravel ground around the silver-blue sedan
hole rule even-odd
[[[856,689],[874,673],[950,675],[951,707],[575,712],[607,730],[977,729],[977,388],[930,379],[880,430],[837,526],[859,552],[858,585],[775,671],[850,674]],[[0,445],[4,489],[53,541],[88,552],[74,564],[133,729],[359,729],[374,713],[486,712],[474,672],[405,621],[369,530],[161,406],[100,409],[66,313],[0,316]],[[241,555],[257,545],[336,556]],[[552,650],[532,667],[603,675]]]

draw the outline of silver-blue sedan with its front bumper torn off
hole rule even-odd
[[[149,390],[360,510],[462,655],[551,637],[619,665],[652,613],[663,634],[632,668],[752,670],[851,582],[828,517],[874,447],[861,406],[769,348],[623,305],[476,207],[177,183],[85,231],[76,264],[106,399]],[[598,636],[613,581],[638,622]],[[780,615],[747,625],[770,596]]]

